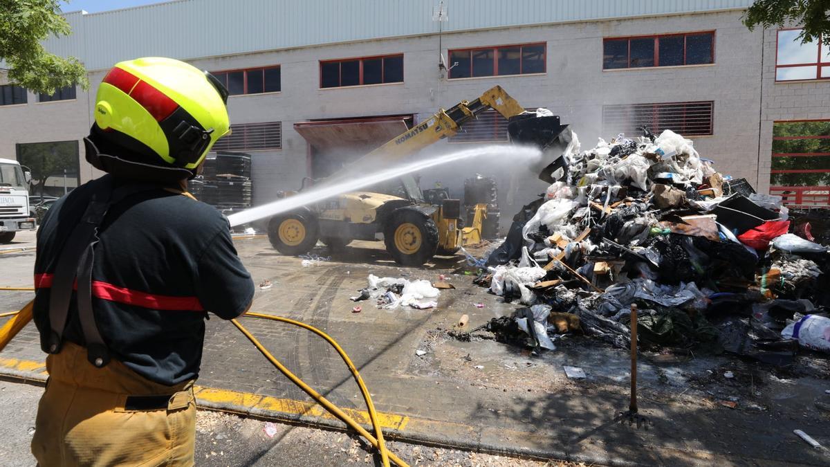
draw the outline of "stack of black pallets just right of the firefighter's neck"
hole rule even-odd
[[[219,152],[207,155],[202,174],[188,189],[197,199],[225,214],[251,207],[251,155]]]

